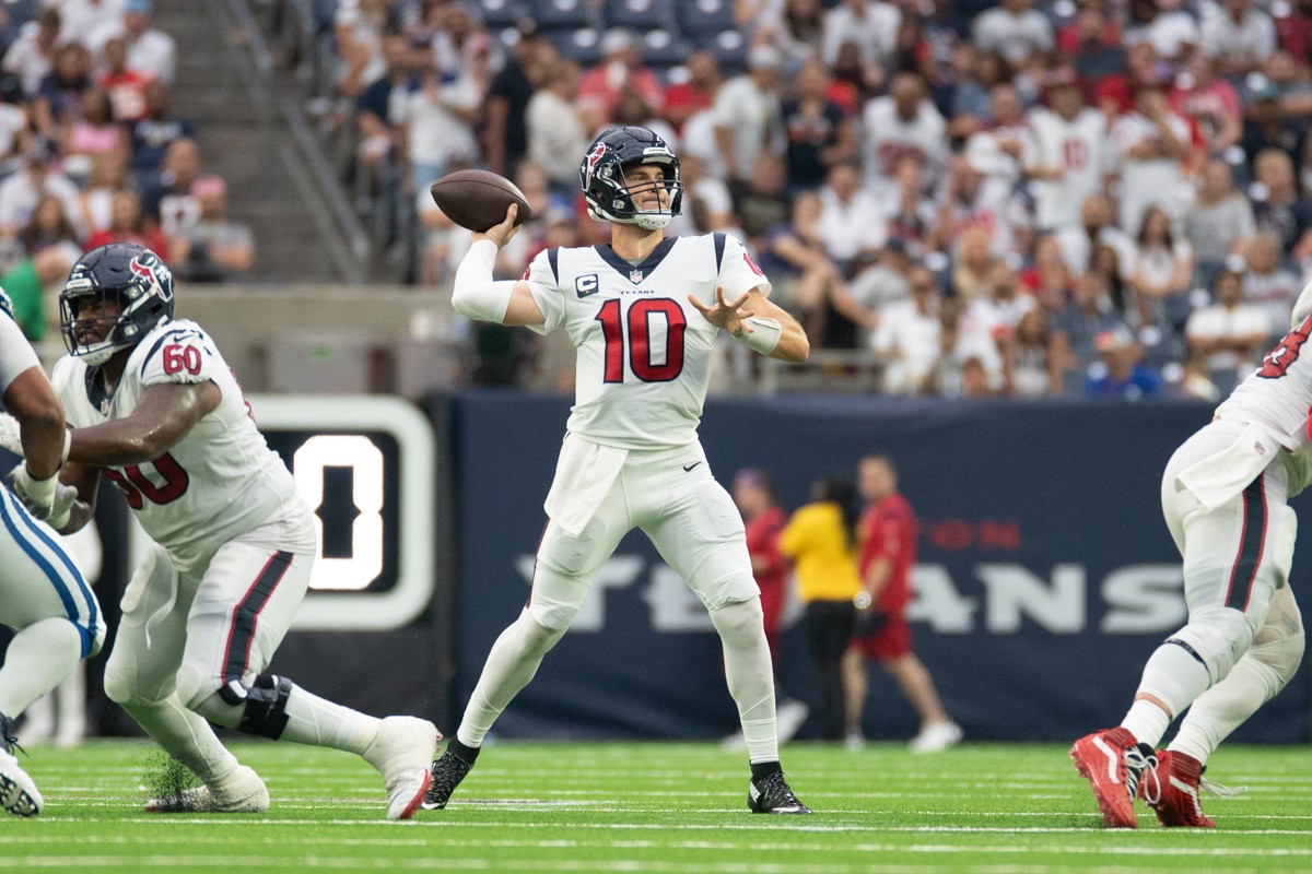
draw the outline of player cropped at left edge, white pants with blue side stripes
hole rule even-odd
[[[60,525],[73,510],[73,491],[59,485],[64,413],[3,291],[0,397],[12,417],[3,443],[26,456],[9,473],[9,487],[0,487],[0,622],[17,632],[0,666],[0,807],[35,816],[43,799],[13,756],[13,722],[100,650],[105,624],[77,565],[37,520]]]

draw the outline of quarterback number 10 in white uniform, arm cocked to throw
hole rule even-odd
[[[455,738],[433,765],[425,808],[441,808],[478,757],[492,723],[573,621],[593,575],[621,537],[642,528],[710,611],[724,646],[752,765],[748,806],[811,812],[783,778],[760,590],[741,516],[711,476],[697,439],[715,337],[723,328],[761,354],[804,360],[796,321],[771,304],[770,283],[733,237],[664,238],[678,214],[678,159],[646,127],[615,127],[580,166],[609,246],[548,249],[518,282],[493,282],[505,221],[474,235],[453,304],[471,318],[564,330],[577,350],[576,402],[550,518],[520,617],[501,633]],[[699,297],[711,303],[703,304]]]

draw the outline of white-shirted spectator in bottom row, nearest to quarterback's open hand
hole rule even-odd
[[[938,359],[938,308],[941,295],[934,274],[912,267],[911,297],[879,312],[871,346],[884,356],[884,392],[918,394]]]

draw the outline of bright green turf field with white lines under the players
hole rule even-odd
[[[337,752],[234,744],[269,785],[266,815],[148,815],[157,759],[139,742],[33,748],[46,797],[0,820],[0,871],[971,871],[1312,870],[1312,750],[1223,748],[1215,831],[1101,828],[1064,746],[792,744],[785,765],[815,816],[747,811],[743,753],[685,743],[497,743],[445,811],[384,816],[380,778]]]

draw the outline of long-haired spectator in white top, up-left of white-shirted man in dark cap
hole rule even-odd
[[[1189,288],[1194,278],[1194,249],[1177,240],[1170,216],[1160,206],[1144,212],[1138,252],[1130,267],[1140,326],[1176,330],[1189,314]]]

